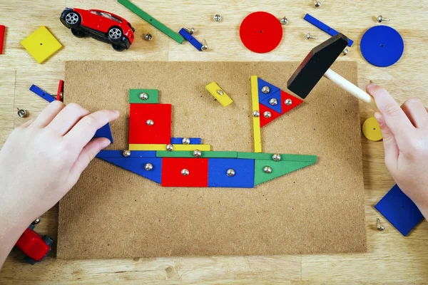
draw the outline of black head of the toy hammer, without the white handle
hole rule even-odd
[[[301,98],[306,98],[347,44],[347,37],[342,33],[337,33],[336,36],[332,36],[324,43],[312,48],[312,51],[288,80],[287,88]]]

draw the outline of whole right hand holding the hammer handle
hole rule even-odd
[[[387,90],[370,84],[379,112],[374,113],[382,131],[385,164],[397,185],[428,218],[428,112],[419,100],[400,106]]]

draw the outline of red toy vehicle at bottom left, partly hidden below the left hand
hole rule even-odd
[[[54,243],[50,237],[40,237],[33,229],[34,223],[30,224],[30,227],[25,230],[15,244],[16,247],[26,254],[24,260],[31,265],[42,261],[51,252],[51,244]]]

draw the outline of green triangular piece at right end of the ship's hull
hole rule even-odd
[[[254,185],[259,185],[263,182],[275,179],[287,173],[300,170],[300,168],[313,165],[315,161],[273,161],[273,160],[255,160],[254,163]],[[265,173],[263,168],[270,166],[272,172]]]

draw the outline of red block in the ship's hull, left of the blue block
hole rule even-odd
[[[208,158],[163,157],[161,185],[163,187],[208,187]]]

